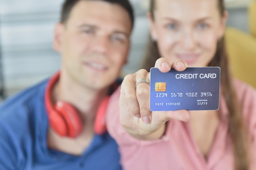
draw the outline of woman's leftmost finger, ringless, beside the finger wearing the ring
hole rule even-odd
[[[135,74],[129,74],[124,77],[124,80],[121,84],[121,91],[120,91],[121,95],[119,100],[119,107],[120,109],[124,109],[122,107],[128,107],[129,112],[136,116],[140,114],[139,114],[139,103],[136,97],[136,88],[135,88],[136,75]]]

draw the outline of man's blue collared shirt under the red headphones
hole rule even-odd
[[[47,147],[47,81],[1,104],[0,170],[121,170],[117,144],[108,133],[95,135],[81,156]]]

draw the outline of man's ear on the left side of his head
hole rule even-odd
[[[59,22],[54,27],[53,49],[57,52],[61,52],[63,30],[64,25]]]

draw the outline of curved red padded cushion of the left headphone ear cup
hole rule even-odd
[[[82,123],[76,109],[65,102],[56,102],[54,108],[63,117],[67,129],[66,136],[75,138],[79,135],[82,130]]]

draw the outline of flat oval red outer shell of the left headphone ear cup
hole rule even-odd
[[[53,130],[60,136],[67,136],[67,125],[63,117],[56,110],[51,110],[48,117],[49,124]]]

